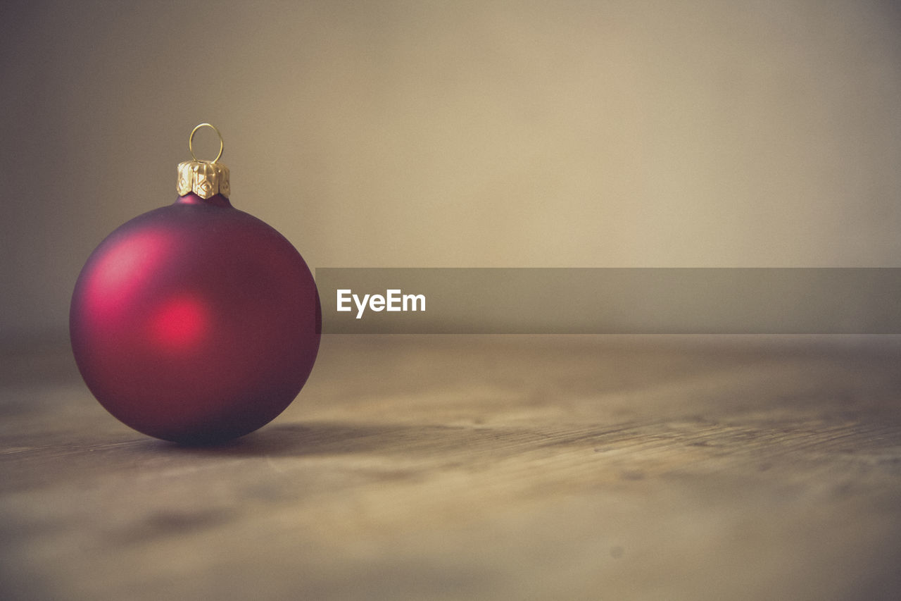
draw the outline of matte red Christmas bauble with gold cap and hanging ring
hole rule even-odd
[[[319,295],[275,229],[232,208],[217,161],[178,165],[179,198],[97,246],[69,313],[72,350],[97,400],[134,430],[232,439],[294,400],[319,349]],[[219,130],[213,129],[216,134]]]

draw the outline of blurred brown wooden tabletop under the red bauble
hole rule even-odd
[[[323,337],[215,448],[2,358],[2,599],[901,598],[896,338]]]

